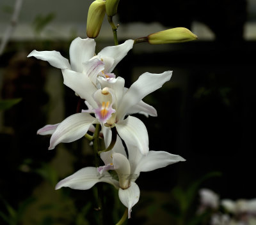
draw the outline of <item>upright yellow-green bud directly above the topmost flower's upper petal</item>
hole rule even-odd
[[[95,0],[90,5],[87,16],[86,34],[88,38],[97,38],[100,33],[100,27],[106,13],[106,2],[104,0]]]

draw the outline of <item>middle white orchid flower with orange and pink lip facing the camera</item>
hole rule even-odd
[[[124,87],[124,78],[120,76],[107,79],[99,77],[101,89],[93,86],[94,92],[88,89],[88,85],[83,82],[82,73],[77,73],[76,76],[73,73],[65,69],[63,72],[65,83],[79,96],[86,99],[89,109],[67,117],[58,126],[51,126],[56,130],[52,132],[49,149],[54,149],[61,142],[78,140],[87,133],[91,124],[100,123],[102,126],[115,126],[127,145],[137,146],[140,152],[146,155],[148,153],[147,128],[140,119],[129,114],[144,112],[156,116],[156,110],[144,103],[142,99],[170,80],[172,71],[161,74],[143,73],[129,89]],[[90,113],[94,113],[95,117]],[[125,119],[125,115],[129,117]],[[45,134],[45,129],[43,127],[38,133]]]

